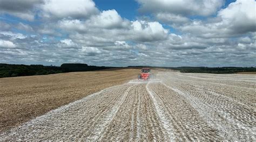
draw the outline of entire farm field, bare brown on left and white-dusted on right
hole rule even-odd
[[[36,118],[31,116],[11,125],[17,127],[3,131],[0,141],[255,141],[255,75],[158,70],[157,79],[138,81],[134,79],[138,69],[125,72],[110,70],[1,79],[4,90],[1,109],[4,110],[0,119],[6,117],[1,125],[12,122],[8,117],[14,119],[16,113],[37,113],[35,108],[40,113],[33,115],[38,116]],[[31,106],[19,109],[25,101],[31,102],[26,103]],[[14,104],[17,106],[12,106]]]

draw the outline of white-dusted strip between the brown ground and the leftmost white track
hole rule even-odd
[[[104,89],[82,100],[50,111],[24,125],[3,133],[0,140],[76,140],[92,136],[97,126],[123,101],[134,83]]]

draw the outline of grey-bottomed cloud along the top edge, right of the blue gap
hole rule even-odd
[[[190,16],[210,16],[213,15],[223,5],[223,0],[137,0],[140,4],[142,12],[167,12],[176,15]]]

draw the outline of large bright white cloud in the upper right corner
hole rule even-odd
[[[213,19],[193,20],[176,28],[205,38],[235,37],[255,32],[255,5],[253,0],[237,1],[220,10]]]

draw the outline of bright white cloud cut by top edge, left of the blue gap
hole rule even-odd
[[[49,18],[85,18],[98,12],[92,0],[46,0],[42,9]]]

